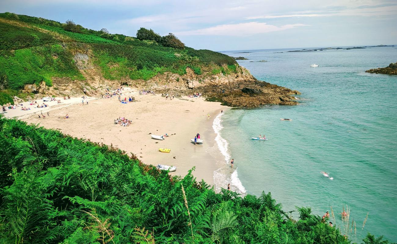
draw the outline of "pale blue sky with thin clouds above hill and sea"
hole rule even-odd
[[[0,12],[127,36],[145,27],[215,51],[397,44],[397,0],[0,0]]]

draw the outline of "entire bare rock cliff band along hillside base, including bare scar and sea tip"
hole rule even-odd
[[[87,50],[86,50],[87,51]],[[202,67],[202,74],[197,75],[187,67],[186,73],[179,75],[172,72],[158,73],[145,81],[129,78],[111,81],[105,79],[92,61],[92,53],[75,52],[74,63],[85,77],[83,81],[67,77],[53,77],[52,86],[44,82],[39,85],[25,85],[23,92],[38,93],[37,96],[80,96],[86,90],[88,96],[101,96],[106,88],[133,86],[139,89],[154,90],[157,93],[189,95],[200,92],[209,100],[220,101],[229,106],[256,107],[264,104],[295,105],[290,95],[300,94],[296,90],[258,81],[247,69],[237,66],[235,72],[213,73]],[[225,65],[227,69],[227,65]]]

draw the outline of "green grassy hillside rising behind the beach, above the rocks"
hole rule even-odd
[[[84,80],[74,64],[76,52],[92,53],[95,68],[108,80],[148,80],[159,72],[183,74],[186,67],[197,74],[202,69],[235,72],[237,65],[233,58],[210,50],[170,48],[83,27],[76,33],[65,23],[14,13],[0,13],[0,33],[0,104],[6,94],[27,84],[45,81],[51,86],[52,77]]]

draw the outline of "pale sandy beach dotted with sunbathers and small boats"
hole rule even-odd
[[[45,119],[39,119],[39,109],[33,110],[35,113],[21,111],[18,115],[19,119],[28,123],[39,123],[40,126],[58,129],[71,136],[112,144],[128,153],[136,154],[147,164],[176,166],[177,170],[172,172],[173,175],[186,175],[195,166],[193,175],[197,177],[197,181],[204,179],[213,185],[214,171],[221,165],[216,163],[217,154],[214,154],[216,134],[212,123],[216,115],[227,107],[217,102],[206,102],[204,98],[166,100],[161,95],[139,95],[136,90],[123,91],[121,97],[127,97],[128,100],[128,96],[135,97],[136,102],[122,104],[114,96],[91,100],[88,105],[83,105],[81,98],[78,98],[75,104],[48,107],[50,115]],[[47,110],[43,110],[43,113]],[[69,119],[64,119],[66,113],[69,114]],[[12,111],[6,115],[12,115]],[[131,125],[124,127],[114,124],[114,119],[118,117],[131,120]],[[150,133],[167,133],[169,137],[155,140]],[[204,140],[203,144],[191,143],[190,140],[197,133]],[[158,151],[159,148],[170,148],[171,152],[162,153]]]

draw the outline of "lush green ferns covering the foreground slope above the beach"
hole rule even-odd
[[[295,220],[270,193],[217,194],[56,130],[0,118],[0,143],[2,243],[350,243],[310,208]]]

